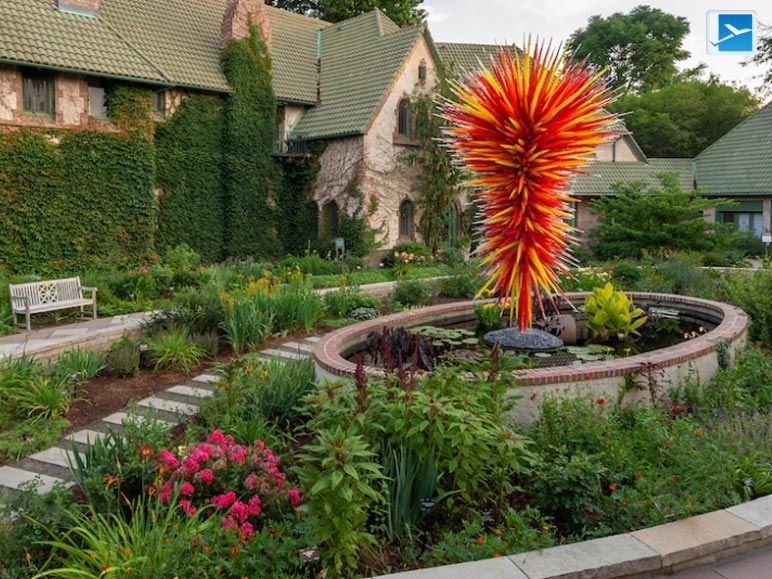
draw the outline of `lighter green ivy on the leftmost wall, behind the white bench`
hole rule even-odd
[[[147,119],[145,93],[122,93],[116,102],[133,101]],[[146,260],[156,225],[146,129],[0,134],[0,265],[56,274]]]

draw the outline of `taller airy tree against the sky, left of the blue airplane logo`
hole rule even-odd
[[[689,23],[651,6],[637,6],[629,14],[590,17],[576,30],[568,49],[580,59],[608,69],[611,85],[622,92],[646,91],[670,82],[676,62],[689,57],[681,42]]]

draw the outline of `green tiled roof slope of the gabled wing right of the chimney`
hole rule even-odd
[[[320,104],[293,132],[309,139],[363,134],[424,33],[422,25],[401,30],[378,10],[323,28]]]

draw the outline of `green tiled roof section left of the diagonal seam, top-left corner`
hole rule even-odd
[[[62,12],[53,0],[0,0],[0,61],[166,82],[104,18]]]

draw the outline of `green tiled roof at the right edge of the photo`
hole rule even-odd
[[[772,194],[772,103],[697,155],[695,164],[703,195]]]

